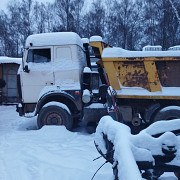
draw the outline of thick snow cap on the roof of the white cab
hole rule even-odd
[[[68,45],[77,44],[83,48],[83,41],[78,34],[74,32],[54,32],[33,34],[28,36],[26,47],[31,46],[53,46],[53,45]]]

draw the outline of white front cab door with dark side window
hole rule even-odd
[[[29,72],[21,71],[22,97],[25,103],[36,103],[41,90],[54,84],[53,47],[30,47],[24,64]]]

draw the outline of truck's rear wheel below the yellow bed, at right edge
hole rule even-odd
[[[160,120],[172,120],[180,119],[180,107],[179,106],[168,106],[157,112],[153,118],[153,122]]]

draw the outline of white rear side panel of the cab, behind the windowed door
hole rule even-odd
[[[54,46],[55,84],[61,90],[80,90],[80,67],[76,45]]]

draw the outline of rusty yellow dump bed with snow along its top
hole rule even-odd
[[[101,65],[119,98],[180,99],[180,51],[99,48]]]

